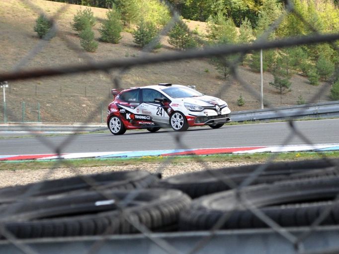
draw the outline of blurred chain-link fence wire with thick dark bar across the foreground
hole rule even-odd
[[[44,11],[34,4],[34,1],[29,0],[20,0],[22,3],[26,4],[26,6],[29,7],[31,11],[33,11],[35,14],[43,13]],[[16,80],[28,80],[28,79],[35,79],[40,77],[54,77],[54,76],[62,76],[67,74],[80,74],[80,73],[86,73],[86,72],[92,72],[92,71],[99,71],[104,73],[108,79],[111,82],[110,88],[121,88],[125,87],[124,85],[124,78],[123,75],[133,69],[133,67],[137,66],[143,66],[143,65],[149,65],[149,64],[159,64],[159,63],[169,63],[169,62],[175,62],[175,61],[181,61],[181,60],[189,60],[189,59],[205,59],[208,57],[220,57],[220,56],[230,56],[234,54],[240,54],[240,57],[237,61],[230,62],[230,68],[231,68],[231,78],[232,80],[238,82],[242,87],[244,87],[246,90],[248,90],[251,94],[253,94],[254,97],[257,99],[260,98],[260,94],[250,85],[248,84],[239,74],[239,62],[242,61],[242,59],[246,56],[248,53],[252,53],[259,50],[268,50],[268,49],[275,49],[275,48],[287,48],[292,46],[299,46],[299,45],[313,45],[313,44],[319,44],[319,43],[330,43],[333,48],[339,53],[338,47],[336,46],[335,42],[339,40],[339,34],[321,34],[317,29],[315,29],[307,20],[305,20],[302,15],[294,8],[293,3],[291,1],[286,1],[285,6],[285,12],[276,19],[276,21],[263,33],[263,35],[258,38],[256,41],[254,41],[251,44],[241,44],[241,45],[221,45],[216,47],[207,47],[204,49],[193,49],[193,50],[187,50],[184,52],[170,52],[170,53],[163,53],[163,54],[156,54],[156,55],[150,55],[147,54],[151,52],[156,44],[157,39],[153,40],[149,45],[147,45],[140,57],[133,58],[133,59],[115,59],[115,60],[109,60],[109,61],[96,61],[94,60],[89,54],[85,53],[77,44],[75,44],[72,40],[70,40],[62,31],[59,31],[57,21],[62,16],[62,13],[64,13],[68,8],[69,4],[64,4],[60,7],[60,9],[56,12],[55,15],[51,17],[52,20],[52,29],[50,32],[39,41],[39,43],[29,52],[26,54],[25,57],[23,57],[17,64],[15,64],[12,68],[12,71],[8,72],[2,72],[0,73],[0,81],[16,81]],[[166,35],[169,30],[173,27],[173,25],[178,22],[179,20],[179,13],[175,11],[175,9],[167,2],[167,5],[169,6],[169,10],[171,13],[171,20],[168,22],[168,24],[162,29],[162,31],[159,33],[159,36]],[[294,15],[299,20],[301,20],[304,25],[306,25],[308,28],[310,28],[311,31],[314,33],[311,35],[306,36],[298,36],[293,38],[285,38],[285,39],[279,39],[279,40],[268,40],[269,35],[275,31],[283,21],[283,19],[287,15]],[[51,42],[52,38],[58,37],[60,38],[65,44],[70,48],[72,51],[76,52],[79,56],[79,58],[85,60],[85,64],[73,64],[73,65],[67,65],[67,66],[55,66],[55,67],[43,67],[43,68],[35,68],[35,69],[23,69],[24,66],[27,66],[32,59],[39,54],[43,49],[48,47],[49,43]],[[5,54],[5,53],[3,53]],[[112,70],[117,69],[117,73],[112,73]],[[335,71],[334,75],[338,75],[338,68]],[[329,84],[328,84],[329,85]],[[326,92],[327,86],[323,85],[320,87],[317,95],[315,95],[309,103],[316,102],[319,95],[324,94]],[[229,89],[232,89],[227,83],[222,85],[220,87],[220,90],[216,93],[216,96],[221,93],[221,91],[227,91]],[[62,93],[61,93],[62,94]],[[101,103],[106,105],[109,102],[107,98],[102,99]],[[97,103],[99,105],[99,103]],[[270,101],[265,101],[265,105],[267,106],[273,106],[273,103]],[[306,106],[305,106],[306,107]],[[300,109],[300,111],[303,111],[304,109]],[[97,119],[97,112],[102,112],[102,109],[100,106],[97,106],[97,108],[92,109],[91,113],[89,114],[89,117],[85,119],[84,125],[86,123],[92,123],[94,119]],[[282,112],[277,112],[279,117],[286,117]],[[16,120],[16,122],[21,122],[20,119],[18,119],[15,114],[12,112],[12,110],[9,108],[7,111],[7,115],[11,120]],[[287,118],[287,117],[286,117]],[[14,121],[13,121],[14,122]],[[29,127],[23,126],[25,130],[27,130]],[[312,143],[310,138],[308,138],[304,133],[302,129],[298,129],[296,125],[294,124],[294,119],[289,118],[289,128],[290,128],[290,134],[286,137],[284,142],[281,144],[282,146],[287,145],[289,141],[293,137],[299,137],[303,141],[305,141],[307,144],[315,145]],[[80,131],[80,129],[79,129]],[[68,145],[75,142],[77,139],[77,135],[70,135],[68,136],[61,144],[54,144],[51,142],[48,138],[37,134],[32,131],[31,133],[35,137],[37,137],[41,143],[42,147],[47,147],[49,149],[52,149],[55,154],[57,154],[60,158],[61,155],[64,153],[65,148],[67,148]],[[183,141],[183,135],[182,132],[170,132],[177,149],[188,149],[190,146],[188,144],[185,144]],[[283,148],[281,148],[283,149]],[[194,154],[194,153],[193,153]],[[281,236],[283,236],[287,241],[291,243],[291,245],[294,246],[296,253],[306,253],[303,247],[303,242],[305,239],[318,227],[321,225],[322,221],[328,216],[331,207],[338,204],[339,201],[339,193],[337,197],[333,200],[333,205],[329,206],[328,209],[325,209],[323,212],[321,212],[318,215],[318,218],[312,223],[311,227],[308,231],[304,232],[302,235],[294,235],[293,233],[289,232],[288,229],[280,226],[278,223],[273,221],[271,218],[269,218],[263,211],[260,210],[260,208],[256,207],[249,198],[247,198],[247,193],[244,192],[244,188],[251,185],[257,177],[265,172],[265,170],[269,167],[270,163],[272,163],[276,157],[278,156],[278,153],[272,153],[270,158],[260,166],[258,166],[254,172],[252,172],[242,183],[237,184],[235,183],[231,178],[225,178],[225,176],[221,176],[217,171],[209,169],[208,165],[202,160],[199,159],[199,157],[196,157],[196,161],[203,166],[204,169],[208,171],[208,173],[215,177],[216,179],[221,179],[220,181],[223,182],[223,184],[231,189],[236,190],[235,195],[236,199],[239,203],[239,205],[243,205],[246,209],[250,210],[256,217],[260,218],[266,225],[268,225],[271,229],[278,232]],[[326,155],[321,154],[321,156],[324,158],[324,160],[327,160]],[[166,158],[163,164],[159,165],[157,168],[157,172],[161,173],[164,171],[166,167],[172,162],[172,157]],[[118,196],[115,196],[111,193],[108,193],[104,190],[102,190],[99,186],[99,184],[96,182],[95,179],[89,176],[85,176],[80,173],[79,168],[74,167],[72,164],[70,164],[67,160],[56,160],[55,165],[51,167],[46,172],[46,177],[53,174],[53,172],[60,167],[61,165],[69,168],[72,172],[74,172],[76,175],[78,175],[85,183],[87,183],[89,186],[91,186],[92,190],[97,191],[102,195],[104,199],[107,200],[115,200],[117,209],[119,210],[119,216],[121,218],[124,218],[126,221],[128,221],[131,225],[133,225],[140,233],[142,233],[146,238],[153,241],[156,245],[158,245],[161,249],[166,251],[169,254],[179,254],[182,253],[180,250],[176,249],[170,242],[167,242],[164,239],[161,239],[159,237],[153,237],[152,231],[147,228],[145,225],[137,222],[136,220],[132,220],[129,216],[129,212],[127,211],[127,204],[132,202],[136,196],[137,193],[142,187],[137,188],[134,191],[130,191],[129,194],[124,197],[123,199],[120,199]],[[339,165],[334,165],[336,169],[339,171]],[[42,183],[32,186],[29,190],[27,190],[23,195],[21,195],[18,198],[19,201],[27,200],[31,198],[32,193],[38,191],[41,188]],[[12,245],[14,245],[16,248],[22,251],[22,253],[25,254],[38,254],[36,250],[34,250],[33,247],[31,247],[28,244],[25,244],[24,242],[20,241],[20,239],[17,239],[13,234],[11,234],[6,227],[4,226],[4,223],[8,220],[8,218],[15,212],[16,209],[20,209],[20,206],[9,206],[8,208],[4,209],[1,212],[1,219],[0,219],[0,232],[1,235],[5,237],[6,240],[8,240]],[[188,252],[188,254],[194,254],[198,251],[201,251],[207,243],[213,238],[216,232],[222,227],[222,225],[225,224],[227,220],[230,219],[232,216],[232,211],[225,213],[220,219],[216,222],[216,224],[210,229],[209,235],[207,237],[203,237],[199,243],[197,243],[195,246],[191,247],[191,250]],[[116,225],[112,224],[110,227],[106,228],[105,233],[101,235],[101,238],[96,241],[89,249],[88,254],[95,254],[97,253],[105,244],[105,242],[108,240],[111,232],[114,232],[114,227]],[[31,241],[31,243],[34,243],[34,240]],[[338,251],[331,251],[331,253],[338,253]],[[317,252],[318,253],[318,252]],[[319,252],[319,253],[327,253]]]

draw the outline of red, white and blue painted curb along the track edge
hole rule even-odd
[[[122,152],[86,152],[57,154],[25,154],[0,155],[0,161],[16,160],[55,160],[55,159],[81,159],[81,158],[131,158],[145,156],[180,156],[180,155],[211,155],[211,154],[244,154],[263,152],[304,152],[304,151],[336,151],[339,144],[317,145],[285,145],[285,146],[250,146],[250,147],[224,147],[201,149],[173,149],[149,151],[122,151]]]

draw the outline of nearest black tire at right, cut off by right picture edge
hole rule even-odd
[[[319,214],[331,207],[321,225],[339,224],[339,178],[321,178],[257,185],[242,189],[248,202],[280,226],[310,226]],[[209,230],[227,214],[220,229],[265,228],[260,218],[239,202],[235,190],[206,195],[193,200],[180,214],[181,230]]]

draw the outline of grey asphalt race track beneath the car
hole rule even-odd
[[[294,125],[307,140],[293,135],[289,124],[283,122],[225,125],[219,129],[189,128],[185,132],[164,129],[156,133],[142,130],[127,131],[123,135],[100,133],[0,139],[0,155],[54,153],[58,147],[61,153],[69,153],[339,143],[339,119],[299,121]]]

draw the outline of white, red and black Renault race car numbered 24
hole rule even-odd
[[[151,132],[161,127],[172,127],[175,131],[203,125],[220,128],[231,122],[231,111],[225,101],[183,85],[161,83],[112,89],[112,94],[107,126],[114,135],[139,128]]]

